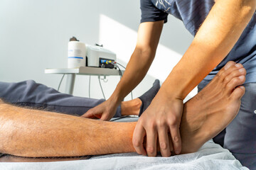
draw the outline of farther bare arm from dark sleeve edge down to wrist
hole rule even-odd
[[[156,54],[164,21],[146,22],[139,25],[137,45],[110,99],[122,101],[145,77]]]

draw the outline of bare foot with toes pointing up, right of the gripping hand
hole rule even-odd
[[[245,88],[242,64],[228,62],[212,81],[184,105],[181,153],[196,152],[238,114]]]

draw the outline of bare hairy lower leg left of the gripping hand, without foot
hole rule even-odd
[[[0,104],[0,152],[75,157],[134,152],[136,123],[113,123]]]

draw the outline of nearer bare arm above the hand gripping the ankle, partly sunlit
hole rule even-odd
[[[252,18],[255,6],[255,0],[217,1],[161,90],[172,97],[185,98],[228,55]]]

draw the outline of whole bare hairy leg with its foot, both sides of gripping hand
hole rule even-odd
[[[244,88],[235,87],[244,81],[245,69],[231,63],[229,69],[222,69],[205,89],[185,103],[181,120],[181,153],[195,152],[235,118],[245,92]],[[23,157],[135,152],[132,145],[135,125],[1,103],[0,152]]]

